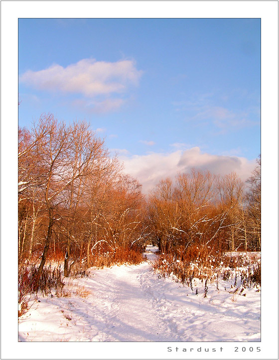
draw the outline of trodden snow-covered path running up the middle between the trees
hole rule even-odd
[[[92,340],[169,341],[172,337],[170,329],[156,311],[154,299],[143,285],[144,275],[150,272],[148,263],[137,267],[119,266],[111,270],[108,278],[108,274],[102,272],[98,276],[99,282],[100,277],[105,275],[105,286],[93,302],[94,312],[99,309],[97,312],[103,329]]]

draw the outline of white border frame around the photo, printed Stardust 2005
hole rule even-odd
[[[17,281],[17,19],[89,15],[93,18],[261,18],[264,278],[261,343],[17,342],[17,291],[13,287],[14,279]],[[168,346],[224,349],[222,353],[191,354],[191,359],[205,359],[207,354],[207,359],[278,359],[278,297],[275,297],[278,295],[278,1],[1,1],[1,175],[1,359],[185,359],[189,356],[189,353],[169,353]],[[234,346],[260,346],[261,352],[234,353]]]

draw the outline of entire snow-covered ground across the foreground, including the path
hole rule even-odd
[[[208,284],[204,298],[201,282],[196,295],[154,274],[155,248],[147,250],[140,265],[91,268],[88,277],[67,279],[69,297],[39,297],[19,319],[19,341],[261,341],[260,291],[233,294],[234,280],[220,280],[219,290]]]

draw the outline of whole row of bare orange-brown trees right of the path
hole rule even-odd
[[[260,250],[260,159],[258,164],[248,188],[235,173],[220,177],[196,169],[178,174],[175,181],[161,180],[148,203],[148,223],[159,249]]]

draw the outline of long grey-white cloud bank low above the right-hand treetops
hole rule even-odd
[[[120,154],[121,155],[121,154]],[[123,154],[124,155],[124,154]],[[201,153],[198,147],[172,153],[152,153],[148,155],[120,156],[125,172],[137,178],[147,193],[159,180],[175,178],[177,172],[189,172],[191,168],[209,170],[216,175],[236,172],[241,180],[247,180],[256,166],[256,160],[236,156],[219,156]]]

